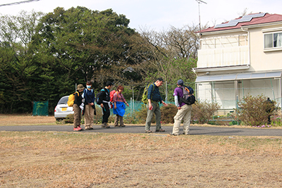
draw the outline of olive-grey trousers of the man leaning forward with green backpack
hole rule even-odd
[[[159,108],[159,104],[152,102],[153,109],[149,110],[149,104],[147,104],[147,119],[145,130],[150,130],[151,122],[153,118],[153,113],[156,115],[156,130],[161,129],[161,110]]]

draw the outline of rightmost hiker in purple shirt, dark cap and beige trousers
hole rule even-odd
[[[174,116],[173,132],[171,132],[171,134],[175,136],[179,135],[179,127],[182,120],[183,120],[183,134],[188,134],[190,120],[191,120],[192,105],[179,102],[180,98],[183,96],[183,86],[184,86],[183,80],[178,80],[177,87],[176,89],[174,89],[173,92],[174,101],[178,108],[178,111]],[[188,89],[190,91],[190,94],[194,93],[194,90],[191,87],[188,87]]]

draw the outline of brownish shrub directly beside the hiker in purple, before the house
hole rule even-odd
[[[217,103],[208,101],[197,101],[192,105],[192,120],[198,120],[200,124],[208,123],[212,116],[219,110],[220,106]]]

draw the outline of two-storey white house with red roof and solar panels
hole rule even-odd
[[[244,15],[200,35],[198,100],[230,111],[243,96],[264,94],[281,105],[282,15]]]

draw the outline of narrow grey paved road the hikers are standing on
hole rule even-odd
[[[156,132],[156,134],[169,134],[172,126],[162,127],[166,132]],[[151,127],[155,130],[155,126]],[[73,125],[30,125],[30,126],[0,126],[0,131],[58,131],[73,132]],[[145,126],[126,126],[106,129],[100,125],[94,125],[94,130],[84,130],[83,132],[111,132],[111,133],[145,133]],[[180,127],[180,134],[183,132]],[[253,129],[253,128],[231,128],[231,127],[194,127],[190,126],[192,135],[223,135],[223,136],[279,136],[282,137],[282,129]]]

